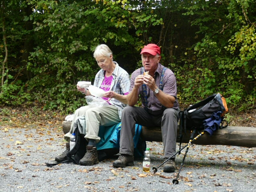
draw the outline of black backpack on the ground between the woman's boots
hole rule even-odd
[[[79,132],[79,129],[82,130],[79,119],[74,123],[74,127],[75,127],[74,133],[76,134],[76,144],[74,148],[72,148],[72,150],[68,152],[67,154],[68,159],[58,163],[46,163],[46,166],[52,167],[60,163],[70,163],[70,162],[79,164],[80,159],[82,159],[86,154],[86,145],[88,145],[88,141],[84,138],[84,134],[81,134]]]

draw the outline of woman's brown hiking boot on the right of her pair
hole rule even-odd
[[[80,159],[79,164],[80,165],[93,165],[98,164],[98,153],[97,148],[92,145],[86,146],[86,154],[82,159]]]

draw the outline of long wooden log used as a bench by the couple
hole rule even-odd
[[[62,129],[64,134],[69,132],[71,126],[70,121],[62,122]],[[179,130],[178,130],[179,133]],[[177,134],[178,135],[178,134]],[[142,138],[145,141],[162,142],[162,134],[160,127],[147,128],[142,127]],[[190,130],[187,130],[186,135],[183,135],[182,142],[188,143],[190,139]],[[179,142],[179,139],[177,139]],[[236,127],[228,126],[223,129],[215,131],[212,136],[204,134],[193,144],[198,145],[230,145],[240,147],[256,147],[256,128],[254,127]]]

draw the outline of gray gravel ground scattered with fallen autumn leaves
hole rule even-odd
[[[256,189],[256,148],[192,145],[174,185],[185,153],[176,156],[176,172],[142,172],[142,160],[126,168],[113,168],[107,159],[94,166],[45,162],[64,151],[60,127],[4,128],[1,130],[0,191],[15,192],[252,192]],[[200,139],[200,138],[199,138]],[[185,144],[183,144],[185,145]],[[162,162],[162,142],[147,142],[151,168]],[[178,147],[178,145],[177,145]],[[117,156],[116,156],[117,158]]]

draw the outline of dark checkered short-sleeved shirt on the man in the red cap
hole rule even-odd
[[[163,65],[161,65],[160,63],[158,63],[158,67],[156,69],[156,72],[154,74],[154,80],[156,82],[156,86],[158,86],[159,88],[159,84],[160,84],[160,76],[162,73],[162,69],[164,68]],[[132,91],[132,88],[134,87],[134,80],[135,78],[141,74],[141,69],[137,69],[132,73],[131,76],[131,85],[130,85],[130,92]],[[177,87],[176,87],[176,78],[174,73],[172,72],[172,70],[170,69],[166,69],[166,71],[164,72],[164,78],[163,78],[163,92],[165,94],[174,96],[175,98],[175,102],[173,105],[174,109],[178,109],[179,104],[178,104],[178,100],[177,100]],[[150,90],[148,88],[148,86],[146,86],[146,90],[147,90],[147,100],[148,100],[148,112],[150,114],[154,114],[154,115],[160,115],[164,112],[164,108],[162,106],[162,104],[159,102],[159,100],[156,98],[156,96],[154,95],[153,91]],[[138,97],[141,98],[142,100],[142,106],[145,107],[145,103],[143,102],[143,94],[142,94],[143,90],[142,90],[142,86],[140,86],[139,90],[138,90]]]

